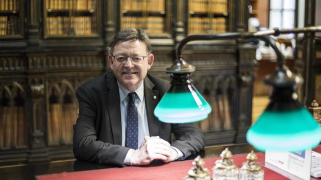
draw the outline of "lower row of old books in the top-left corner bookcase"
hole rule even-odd
[[[19,34],[19,16],[0,16],[0,35]]]

